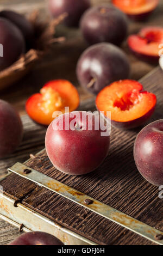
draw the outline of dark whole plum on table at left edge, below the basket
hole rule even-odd
[[[23,126],[15,109],[0,100],[0,159],[13,153],[20,145],[23,136]]]

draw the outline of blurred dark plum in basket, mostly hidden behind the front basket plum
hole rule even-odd
[[[15,13],[15,11],[3,10],[0,12],[0,17],[8,19],[14,23],[22,32],[27,45],[30,45],[34,38],[34,29],[32,23],[30,23],[26,17],[21,14]]]

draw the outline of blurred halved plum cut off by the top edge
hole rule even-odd
[[[153,12],[159,0],[112,0],[112,3],[130,19],[142,21]]]

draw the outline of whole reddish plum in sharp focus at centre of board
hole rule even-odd
[[[108,155],[110,145],[110,135],[102,136],[99,122],[94,114],[85,111],[65,113],[52,121],[46,132],[45,147],[55,168],[69,175],[83,175],[97,169]]]

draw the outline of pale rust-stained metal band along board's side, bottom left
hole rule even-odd
[[[97,245],[21,203],[18,203],[18,207],[15,208],[14,202],[14,199],[0,192],[0,218],[15,227],[20,228],[23,223],[23,231],[46,232],[56,236],[65,245]]]

